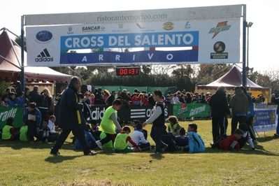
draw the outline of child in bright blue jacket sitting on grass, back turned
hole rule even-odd
[[[187,145],[183,151],[189,153],[204,152],[206,147],[201,139],[201,136],[197,134],[198,125],[195,123],[190,123],[188,127],[189,145]]]

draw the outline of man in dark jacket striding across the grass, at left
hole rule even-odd
[[[92,152],[85,139],[85,118],[83,117],[83,103],[78,101],[78,90],[80,89],[80,78],[73,76],[68,88],[63,92],[59,108],[58,127],[63,129],[57,142],[50,151],[50,155],[60,155],[58,151],[62,147],[70,132],[80,141],[84,155],[96,155]]]

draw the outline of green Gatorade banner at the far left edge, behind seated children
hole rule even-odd
[[[8,117],[13,117],[13,127],[22,127],[22,117],[24,112],[24,107],[0,107],[0,129],[3,129],[7,123]]]

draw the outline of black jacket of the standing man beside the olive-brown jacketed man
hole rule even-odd
[[[231,115],[226,94],[222,90],[217,90],[216,93],[211,96],[209,106],[211,108],[212,117]]]

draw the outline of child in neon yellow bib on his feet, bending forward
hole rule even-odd
[[[118,129],[118,131],[122,132],[122,128],[117,121],[117,110],[119,110],[121,106],[121,99],[115,99],[115,101],[113,101],[113,106],[109,106],[108,108],[106,108],[106,111],[103,114],[99,131],[104,131],[106,137],[102,138],[99,141],[96,141],[96,145],[101,150],[103,150],[103,144],[106,144],[109,141],[113,141],[114,143],[116,137],[115,127]]]

